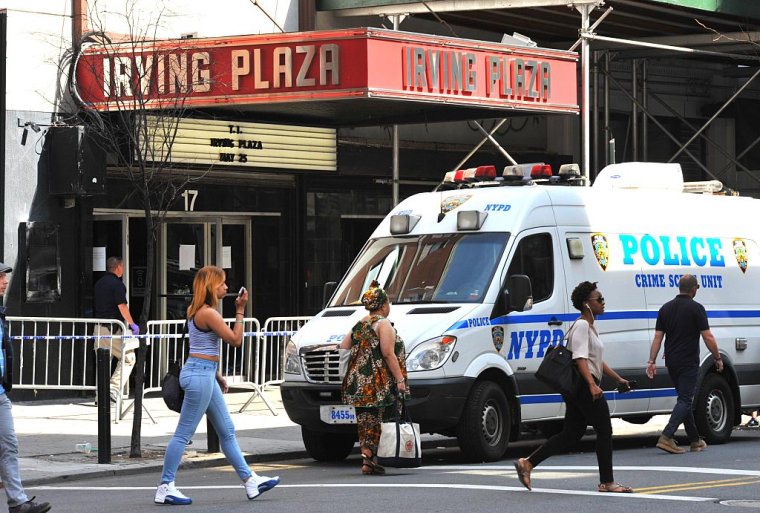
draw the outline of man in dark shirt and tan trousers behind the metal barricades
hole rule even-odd
[[[129,307],[127,306],[127,288],[124,286],[124,282],[121,281],[121,277],[124,274],[124,262],[120,257],[109,257],[106,260],[106,270],[108,271],[102,278],[95,284],[94,296],[95,296],[95,317],[97,319],[114,319],[117,321],[126,322],[129,325],[129,329],[133,335],[140,334],[140,327],[132,320],[132,314],[129,313]],[[110,326],[98,325],[95,329],[96,335],[121,335],[121,329],[115,328],[111,333]],[[113,342],[112,342],[113,340]],[[118,359],[122,357],[122,338],[114,337],[100,338],[98,344],[95,347],[110,347],[111,354]],[[132,367],[135,365],[135,351],[134,349],[128,350],[124,353],[124,375],[122,376],[121,368],[122,362],[116,366],[116,369],[111,375],[111,400],[116,400],[122,390],[122,383],[126,385],[129,380],[129,375],[132,372]]]

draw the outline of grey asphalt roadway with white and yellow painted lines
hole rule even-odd
[[[702,453],[669,455],[653,448],[656,436],[616,437],[616,479],[633,494],[600,494],[593,437],[569,454],[550,458],[533,472],[534,491],[517,481],[512,461],[538,441],[521,442],[497,463],[462,461],[456,448],[425,451],[419,469],[389,469],[386,476],[362,476],[352,455],[339,463],[309,459],[254,464],[282,484],[248,501],[228,466],[182,469],[177,484],[194,503],[186,512],[552,512],[732,511],[727,501],[758,507],[760,431],[741,431],[732,441]],[[156,474],[88,479],[31,487],[28,492],[55,504],[56,512],[155,512]],[[104,506],[107,504],[107,507]],[[737,504],[738,505],[738,504]],[[163,506],[168,507],[168,506]],[[744,509],[744,508],[743,508]],[[746,511],[746,509],[744,509]],[[739,510],[741,511],[741,510]]]

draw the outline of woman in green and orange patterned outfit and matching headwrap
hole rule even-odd
[[[384,474],[377,463],[380,424],[392,417],[396,394],[409,394],[406,384],[404,341],[387,319],[388,295],[373,281],[362,295],[369,314],[357,322],[340,344],[351,349],[351,362],[343,378],[343,402],[356,408],[362,473]]]

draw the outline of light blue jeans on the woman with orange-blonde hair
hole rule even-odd
[[[187,442],[195,434],[204,413],[208,415],[219,435],[222,451],[240,479],[246,480],[252,475],[235,438],[235,426],[227,411],[222,390],[216,382],[216,367],[216,362],[200,358],[188,358],[182,367],[179,384],[185,391],[185,400],[182,403],[177,430],[166,447],[162,483],[174,481]]]

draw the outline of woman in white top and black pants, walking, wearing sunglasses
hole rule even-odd
[[[568,331],[567,348],[573,353],[573,361],[578,367],[580,378],[574,392],[563,396],[566,409],[562,431],[549,438],[527,458],[520,458],[515,462],[517,478],[530,490],[530,472],[533,467],[549,456],[571,448],[583,437],[586,427],[591,425],[596,432],[599,491],[631,493],[632,488],[616,483],[612,476],[612,423],[610,409],[600,384],[603,374],[624,388],[629,388],[629,384],[602,359],[604,346],[594,326],[594,320],[604,313],[604,297],[596,288],[596,283],[584,281],[575,287],[571,299],[573,306],[580,310],[581,316]]]

